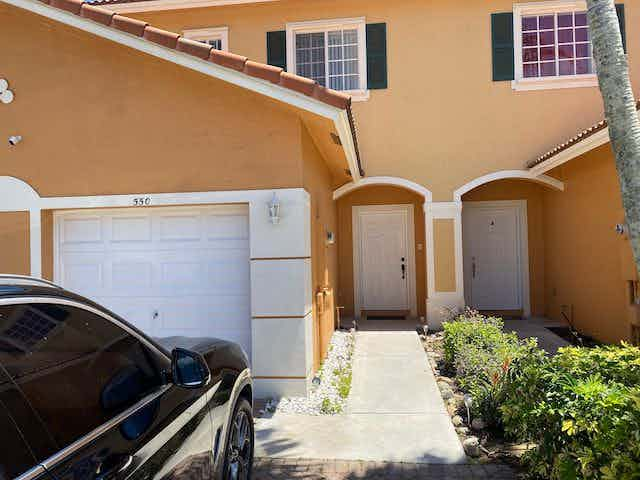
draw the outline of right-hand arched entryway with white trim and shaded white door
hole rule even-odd
[[[457,192],[467,305],[504,317],[544,315],[544,197],[562,189],[552,177],[494,174]]]

